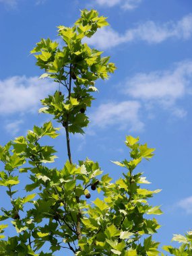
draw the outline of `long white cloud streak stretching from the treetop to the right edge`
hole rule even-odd
[[[178,22],[157,24],[153,21],[144,22],[135,28],[130,28],[124,34],[119,34],[113,28],[106,27],[98,30],[86,42],[99,49],[110,49],[125,42],[143,40],[150,44],[158,44],[168,38],[187,40],[192,35],[192,14],[186,15]]]

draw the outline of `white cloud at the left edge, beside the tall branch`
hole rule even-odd
[[[49,79],[14,76],[0,80],[0,115],[38,110],[40,99],[55,89]]]

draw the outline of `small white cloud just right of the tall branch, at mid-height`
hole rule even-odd
[[[140,107],[139,102],[135,100],[100,104],[91,113],[91,125],[100,128],[116,125],[119,129],[141,131],[143,129],[143,123],[139,120]]]

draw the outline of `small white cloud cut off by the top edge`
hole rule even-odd
[[[96,0],[98,5],[113,7],[121,5],[123,9],[135,9],[142,0]]]

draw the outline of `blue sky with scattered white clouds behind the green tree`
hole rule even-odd
[[[29,52],[40,38],[56,39],[56,26],[71,26],[85,7],[108,17],[110,26],[88,44],[104,50],[118,69],[98,81],[87,134],[71,137],[73,161],[88,156],[117,179],[122,170],[110,160],[129,158],[125,135],[156,148],[138,171],[151,189],[162,189],[152,199],[164,211],[156,239],[169,244],[172,234],[192,228],[191,0],[0,0],[0,143],[49,119],[38,115],[39,100],[57,86],[38,80],[42,72]],[[51,143],[62,166],[64,135]]]

